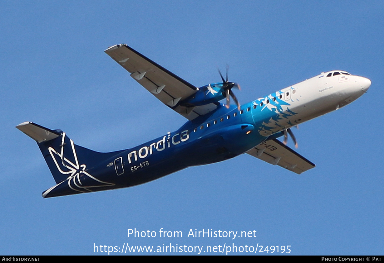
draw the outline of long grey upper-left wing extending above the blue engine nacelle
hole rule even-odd
[[[219,105],[210,103],[194,108],[177,105],[179,101],[197,92],[198,88],[126,44],[111,46],[104,52],[131,73],[131,77],[157,99],[188,120],[215,110]]]

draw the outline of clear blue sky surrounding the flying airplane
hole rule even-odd
[[[0,254],[233,243],[290,245],[293,255],[382,255],[383,11],[381,1],[2,1]],[[119,43],[196,86],[219,82],[217,67],[229,64],[240,103],[333,69],[372,85],[293,130],[298,152],[317,165],[300,176],[243,155],[131,188],[43,199],[55,182],[19,123],[114,151],[186,121],[103,52]],[[128,237],[133,228],[157,236]],[[160,238],[161,228],[183,237]],[[187,237],[203,228],[257,237]]]

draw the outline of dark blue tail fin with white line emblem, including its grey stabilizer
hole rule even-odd
[[[56,184],[81,170],[90,170],[120,152],[99,153],[89,150],[75,145],[61,130],[50,130],[32,122],[23,122],[16,128],[37,142]]]

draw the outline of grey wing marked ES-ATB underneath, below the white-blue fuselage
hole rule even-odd
[[[247,153],[267,163],[277,164],[296,174],[301,174],[316,166],[277,139],[264,141]]]

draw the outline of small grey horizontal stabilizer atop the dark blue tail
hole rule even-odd
[[[30,136],[33,140],[41,143],[57,138],[61,133],[50,130],[33,122],[23,122],[16,126],[20,131]]]

